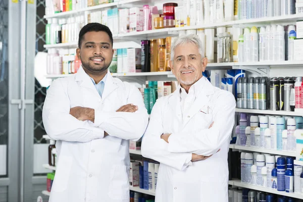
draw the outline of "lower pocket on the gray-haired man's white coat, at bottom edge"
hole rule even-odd
[[[228,176],[203,176],[199,202],[228,202]]]

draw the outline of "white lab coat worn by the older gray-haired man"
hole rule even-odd
[[[186,98],[193,100],[185,119],[179,86],[174,93],[157,100],[143,136],[142,155],[161,163],[156,202],[228,201],[227,153],[235,98],[212,86],[205,77],[193,86],[194,92],[190,88],[190,97]],[[208,129],[212,122],[214,125]],[[165,133],[171,133],[169,143],[161,139]],[[192,153],[213,156],[191,163]]]

